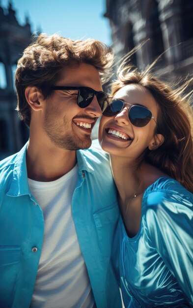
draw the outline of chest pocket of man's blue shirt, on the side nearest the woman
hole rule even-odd
[[[102,256],[110,257],[112,241],[119,217],[117,202],[93,214]]]

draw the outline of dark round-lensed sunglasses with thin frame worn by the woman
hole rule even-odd
[[[107,101],[108,105],[106,105],[103,111],[103,116],[105,117],[112,117],[117,115],[124,108],[125,104],[129,104],[115,97],[108,97]],[[151,119],[155,121],[151,111],[146,107],[133,104],[129,105],[131,105],[131,107],[129,108],[128,116],[130,122],[134,126],[143,127],[147,125]]]

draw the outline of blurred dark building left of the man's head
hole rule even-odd
[[[19,151],[28,139],[28,128],[15,111],[14,75],[30,36],[28,18],[21,26],[11,2],[7,12],[0,7],[0,159]]]

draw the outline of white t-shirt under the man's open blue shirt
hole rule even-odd
[[[30,308],[93,308],[94,297],[72,218],[77,165],[53,182],[28,179],[44,215],[44,239]]]

